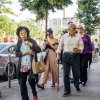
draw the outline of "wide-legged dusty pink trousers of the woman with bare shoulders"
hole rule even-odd
[[[58,67],[56,61],[56,53],[53,50],[49,50],[47,62],[46,62],[46,71],[42,73],[39,83],[45,84],[49,79],[52,79],[52,83],[57,83],[58,77]]]

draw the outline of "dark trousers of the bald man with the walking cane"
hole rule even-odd
[[[80,56],[79,54],[70,54],[65,52],[62,58],[63,62],[63,74],[64,74],[64,91],[71,92],[70,89],[70,68],[72,67],[74,86],[79,88],[80,77]]]

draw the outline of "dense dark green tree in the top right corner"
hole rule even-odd
[[[97,0],[78,0],[77,18],[84,24],[88,34],[93,34],[100,24],[100,3]]]

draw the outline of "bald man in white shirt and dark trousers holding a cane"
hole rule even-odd
[[[79,88],[79,76],[80,76],[80,56],[79,53],[82,52],[84,45],[81,37],[76,34],[76,25],[70,23],[68,25],[68,34],[64,34],[61,37],[58,49],[57,49],[57,60],[59,60],[59,55],[63,46],[63,73],[64,73],[64,94],[63,97],[71,94],[70,88],[70,68],[72,66],[73,76],[74,76],[74,86],[76,91],[81,91]]]

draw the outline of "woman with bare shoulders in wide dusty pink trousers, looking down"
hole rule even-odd
[[[52,79],[52,87],[55,87],[55,83],[58,82],[58,70],[55,52],[58,46],[58,39],[53,37],[52,29],[47,30],[47,40],[45,40],[44,46],[46,49],[48,49],[48,55],[46,59],[46,71],[42,73],[38,84],[38,87],[42,89],[44,89],[44,84],[47,82],[48,78]]]

